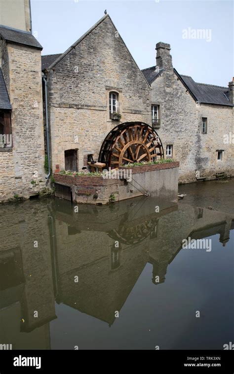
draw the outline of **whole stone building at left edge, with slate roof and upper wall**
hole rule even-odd
[[[29,31],[29,0],[8,4],[0,3],[10,17],[0,26],[0,201],[29,198],[45,185],[42,47]]]

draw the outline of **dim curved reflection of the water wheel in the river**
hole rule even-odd
[[[132,227],[119,226],[117,230],[111,230],[108,236],[123,244],[138,244],[154,233],[157,222],[158,218],[155,218]]]

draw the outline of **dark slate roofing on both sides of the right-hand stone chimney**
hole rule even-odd
[[[161,74],[163,69],[155,71],[156,66],[143,69],[142,72],[149,84]],[[184,86],[189,90],[195,101],[206,104],[218,104],[233,106],[229,101],[228,87],[214,86],[212,84],[196,83],[191,76],[179,74],[174,69],[176,75],[180,78]]]

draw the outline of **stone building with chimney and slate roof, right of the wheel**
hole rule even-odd
[[[170,44],[156,44],[156,66],[142,70],[151,85],[152,124],[166,157],[180,162],[179,181],[234,175],[234,81],[196,83],[172,65]],[[231,136],[231,142],[226,138]]]

